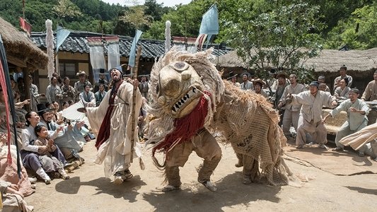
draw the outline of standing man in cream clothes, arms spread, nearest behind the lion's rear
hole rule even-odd
[[[311,134],[320,148],[326,148],[327,130],[322,122],[322,107],[333,108],[337,106],[337,100],[330,93],[318,90],[319,83],[313,81],[310,90],[299,94],[289,94],[286,98],[291,99],[292,105],[302,105],[298,118],[296,145],[303,148],[306,143],[306,134]]]

